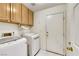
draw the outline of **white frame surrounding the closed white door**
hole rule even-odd
[[[63,14],[63,52],[64,52],[64,55],[66,55],[66,21],[65,21],[65,12],[56,12],[56,13],[52,13],[52,14],[48,14],[48,15],[56,15],[56,14]],[[46,16],[48,16],[46,15]],[[47,22],[47,20],[46,20]],[[45,25],[45,27],[47,27],[47,25]],[[47,31],[46,31],[46,51],[47,50]],[[56,52],[52,52],[52,51],[48,51],[48,52],[51,52],[51,53],[55,53],[55,54],[59,54],[59,53],[56,53]],[[62,55],[62,54],[59,54],[59,55]],[[63,55],[63,56],[64,56]]]

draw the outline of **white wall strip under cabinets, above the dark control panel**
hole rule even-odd
[[[15,36],[19,36],[18,25],[0,22],[0,38],[1,34],[5,32],[14,32]]]

